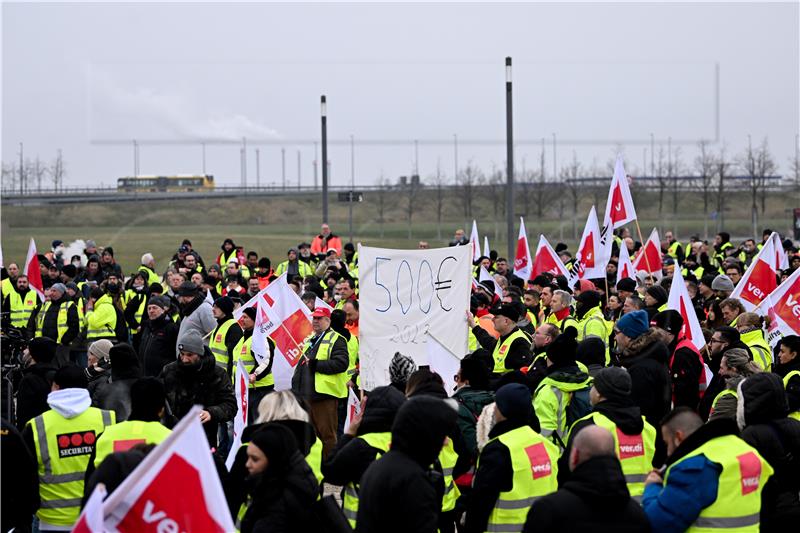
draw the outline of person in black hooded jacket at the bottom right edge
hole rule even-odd
[[[800,421],[788,418],[781,378],[750,376],[739,384],[737,422],[742,439],[775,469],[761,496],[761,531],[781,531],[800,520]],[[789,526],[789,525],[792,526]]]

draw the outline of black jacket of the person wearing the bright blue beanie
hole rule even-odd
[[[669,350],[658,330],[650,328],[630,341],[620,362],[631,376],[631,400],[654,427],[669,412],[672,388],[667,363]]]

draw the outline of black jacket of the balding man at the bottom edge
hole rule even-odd
[[[577,465],[559,487],[533,503],[524,532],[650,531],[647,516],[631,499],[622,466],[614,456],[592,457]]]

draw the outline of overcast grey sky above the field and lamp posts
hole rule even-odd
[[[133,173],[132,139],[196,140],[140,148],[142,174],[200,173],[201,139],[248,138],[248,181],[312,181],[319,96],[329,136],[356,142],[356,182],[419,170],[452,175],[505,159],[504,57],[514,60],[518,168],[552,174],[573,155],[605,168],[624,141],[640,172],[653,133],[714,140],[731,153],[769,138],[788,173],[800,115],[800,9],[791,3],[3,4],[2,157],[51,159],[67,186]],[[107,144],[124,141],[124,145]],[[486,141],[469,143],[467,141]],[[259,145],[258,141],[264,144]],[[359,144],[359,141],[370,141]],[[394,142],[397,141],[397,142]],[[430,141],[430,142],[429,142]],[[530,141],[526,144],[525,141]],[[578,143],[580,141],[580,143]],[[591,141],[591,143],[587,143]],[[574,144],[573,144],[574,142]],[[334,184],[350,149],[331,147]],[[211,145],[206,171],[240,182],[239,146]],[[648,169],[649,170],[649,169]]]

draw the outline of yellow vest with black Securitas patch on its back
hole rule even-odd
[[[28,424],[39,462],[40,520],[55,526],[72,526],[78,519],[83,479],[95,440],[113,424],[113,411],[89,407],[75,418],[45,411]]]

